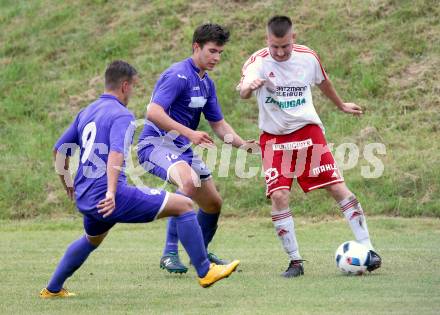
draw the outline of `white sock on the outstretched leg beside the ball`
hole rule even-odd
[[[355,195],[338,202],[342,213],[350,225],[356,240],[365,245],[368,249],[373,249],[368,233],[367,221],[365,220],[364,211]]]

